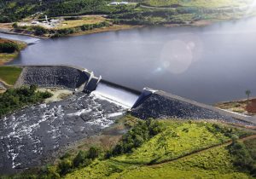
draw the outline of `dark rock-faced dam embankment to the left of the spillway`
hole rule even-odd
[[[16,87],[37,84],[39,87],[61,87],[75,90],[87,83],[89,71],[73,66],[22,66]]]

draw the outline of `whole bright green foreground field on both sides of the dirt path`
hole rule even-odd
[[[212,147],[230,140],[233,134],[244,136],[246,132],[204,122],[169,120],[161,123],[166,130],[131,154],[97,159],[67,174],[66,178],[250,178],[247,173],[236,170],[226,145]],[[211,148],[203,150],[206,147]],[[184,156],[188,153],[195,154]],[[174,160],[165,162],[170,159]],[[161,164],[145,165],[152,160]]]

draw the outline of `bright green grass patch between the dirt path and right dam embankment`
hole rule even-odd
[[[230,136],[221,130],[212,132],[215,130],[212,124],[172,120],[163,123],[165,131],[144,143],[134,153],[119,156],[116,160],[131,164],[159,163],[230,140]]]

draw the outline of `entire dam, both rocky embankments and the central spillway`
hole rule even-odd
[[[137,90],[97,78],[93,72],[75,66],[22,66],[16,86],[37,84],[91,92],[131,108],[138,118],[219,119],[229,123],[256,124],[255,119],[229,113],[160,90]]]

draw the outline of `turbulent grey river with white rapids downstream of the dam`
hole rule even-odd
[[[65,101],[26,107],[0,119],[0,174],[42,165],[42,159],[113,124],[125,113],[96,94],[79,93]]]

